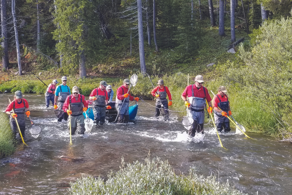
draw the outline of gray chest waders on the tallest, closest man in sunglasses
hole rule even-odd
[[[206,106],[206,89],[204,89],[204,98],[194,97],[194,85],[192,84],[192,96],[189,97],[190,107],[189,107],[189,115],[194,119],[193,127],[189,130],[189,135],[191,137],[195,136],[195,133],[204,134],[204,119],[205,112],[204,108]]]

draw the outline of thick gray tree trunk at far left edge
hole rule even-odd
[[[7,14],[6,14],[6,0],[1,0],[1,30],[2,30],[2,69],[7,70],[9,65],[8,58],[8,39],[7,39]]]

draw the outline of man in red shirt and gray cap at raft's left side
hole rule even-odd
[[[105,110],[111,109],[112,107],[108,105],[107,82],[101,81],[99,87],[93,89],[89,99],[94,101],[93,115],[96,124],[100,123],[102,125],[105,123]],[[105,109],[106,108],[106,109]]]

